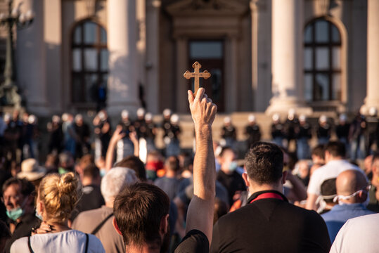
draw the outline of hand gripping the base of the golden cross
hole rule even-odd
[[[195,127],[212,126],[217,112],[217,105],[205,94],[205,89],[198,89],[196,96],[192,91],[188,91],[188,102]]]

